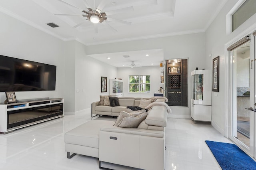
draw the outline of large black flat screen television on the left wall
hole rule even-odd
[[[0,55],[0,92],[55,90],[56,66]]]

